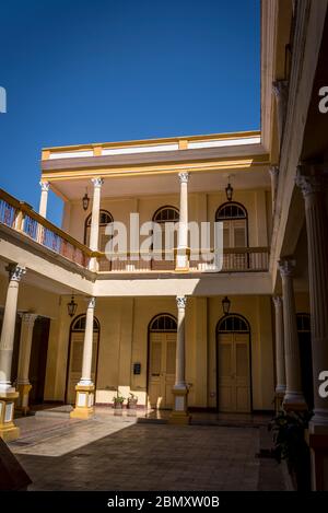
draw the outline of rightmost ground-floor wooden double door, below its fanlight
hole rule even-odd
[[[219,411],[250,411],[249,335],[219,334]]]

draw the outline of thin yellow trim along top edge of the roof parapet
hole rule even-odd
[[[62,147],[47,147],[43,148],[43,151],[56,152],[70,152],[70,151],[83,151],[83,150],[93,150],[96,147],[101,148],[126,148],[126,147],[136,147],[136,145],[155,145],[164,143],[178,143],[179,141],[211,141],[211,140],[222,140],[222,139],[244,139],[250,137],[260,137],[260,130],[253,131],[238,131],[238,132],[225,132],[225,133],[210,133],[210,135],[200,135],[200,136],[181,136],[181,137],[167,137],[167,138],[155,138],[155,139],[137,139],[129,141],[116,141],[116,142],[96,142],[90,144],[71,144]],[[43,158],[44,160],[44,158]]]

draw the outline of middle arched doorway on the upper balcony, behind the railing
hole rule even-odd
[[[157,209],[153,215],[152,221],[154,223],[160,224],[161,230],[162,230],[162,250],[164,252],[165,249],[165,224],[166,223],[178,223],[179,222],[179,211],[176,207],[172,206],[165,206],[161,207]],[[172,241],[172,250],[177,247],[177,233],[176,231],[173,234],[173,241]],[[169,247],[171,249],[171,247]],[[153,270],[174,270],[175,269],[175,260],[174,260],[174,254],[172,259],[165,259],[165,254],[162,254],[162,259],[161,260],[152,260],[151,263],[152,269]]]

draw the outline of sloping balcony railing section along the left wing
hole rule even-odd
[[[0,189],[0,223],[26,235],[42,246],[82,267],[87,267],[92,252],[75,238]]]

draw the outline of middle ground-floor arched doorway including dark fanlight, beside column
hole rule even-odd
[[[172,408],[175,382],[176,318],[156,315],[149,324],[148,396],[151,408]]]

